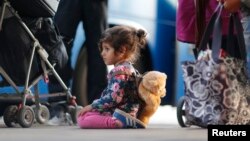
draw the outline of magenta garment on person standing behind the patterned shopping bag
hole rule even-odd
[[[215,8],[218,5],[217,0],[209,0],[206,7],[206,23],[209,22]],[[222,11],[222,33],[227,34],[229,13]],[[177,40],[187,43],[195,43],[195,3],[194,0],[178,0],[178,9],[176,17]]]

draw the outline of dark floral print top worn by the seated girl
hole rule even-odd
[[[108,86],[103,90],[99,99],[91,104],[94,111],[112,115],[116,108],[119,108],[131,116],[136,117],[139,109],[139,97],[135,83],[129,79],[129,75],[117,74],[119,72],[135,72],[134,67],[129,62],[123,62],[115,66],[107,75]]]

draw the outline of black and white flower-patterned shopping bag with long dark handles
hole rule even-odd
[[[198,59],[182,62],[184,111],[187,124],[190,125],[207,127],[209,124],[235,125],[248,124],[250,121],[249,82],[242,25],[238,15],[231,14],[227,47],[222,49],[222,10],[223,6],[219,4],[208,23],[200,43]],[[237,46],[231,40],[234,34],[237,35]],[[208,47],[210,37],[211,48]],[[238,47],[240,57],[233,57],[235,47]]]

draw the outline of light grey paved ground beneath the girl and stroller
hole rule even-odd
[[[34,124],[6,128],[0,120],[1,141],[207,141],[207,130],[181,128],[174,107],[160,107],[147,129],[79,129],[77,126]]]

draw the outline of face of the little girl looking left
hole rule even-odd
[[[101,56],[106,65],[115,65],[122,60],[122,55],[120,53],[115,53],[114,48],[105,42],[102,43]]]

